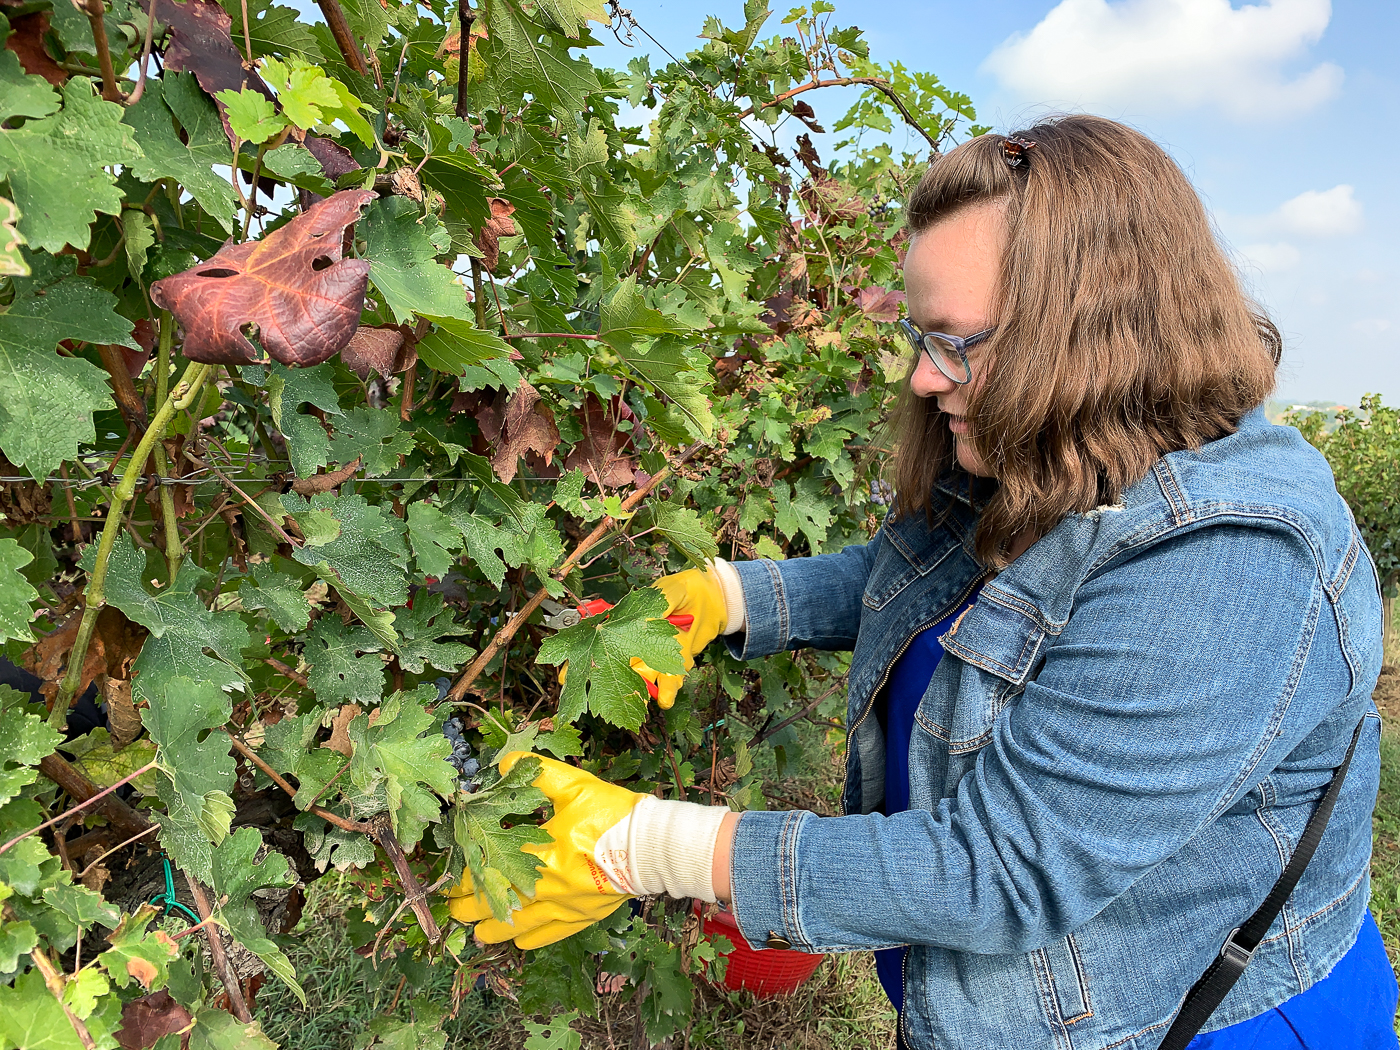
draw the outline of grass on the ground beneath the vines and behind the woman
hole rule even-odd
[[[1400,654],[1392,654],[1400,655]],[[1400,665],[1389,665],[1376,689],[1385,717],[1380,735],[1380,795],[1375,812],[1371,910],[1385,938],[1390,963],[1400,972]],[[776,784],[783,804],[836,812],[840,746],[804,727],[802,770]],[[823,763],[822,756],[830,756]],[[769,759],[771,760],[771,759]],[[763,770],[769,773],[769,770]],[[776,777],[776,770],[774,770]],[[377,1016],[407,1018],[410,998],[451,1000],[452,970],[441,966],[420,987],[402,981],[392,966],[375,970],[354,953],[343,911],[344,882],[326,876],[311,888],[307,911],[287,953],[307,990],[301,1007],[276,981],[263,986],[258,1014],[267,1035],[287,1050],[350,1050]],[[830,956],[797,994],[756,1000],[748,993],[696,983],[694,1021],[673,1042],[673,1050],[889,1050],[895,1044],[895,1012],[875,977],[868,953]],[[634,988],[601,995],[594,1019],[575,1023],[585,1050],[631,1050],[638,1040]],[[458,1016],[444,1025],[447,1050],[521,1050],[525,1018],[508,998],[484,991],[466,995]],[[1400,1030],[1400,1016],[1397,1016]]]

